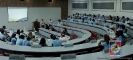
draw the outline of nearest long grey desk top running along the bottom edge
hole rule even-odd
[[[128,48],[130,47],[130,48]],[[70,59],[70,60],[111,60],[116,59],[117,60],[126,60],[126,59],[133,59],[133,56],[124,57],[127,55],[132,55],[132,45],[125,45],[122,47],[121,55],[120,56],[110,56],[109,53],[96,52],[91,54],[83,54],[83,55],[77,55],[76,59]],[[0,57],[1,59],[8,60],[8,57]],[[47,57],[47,58],[26,58],[26,60],[61,60],[61,57]]]

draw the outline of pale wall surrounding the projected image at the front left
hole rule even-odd
[[[0,27],[3,25],[7,28],[31,30],[33,25],[32,22],[38,19],[44,19],[47,23],[49,19],[58,20],[61,19],[61,8],[60,7],[28,7],[28,21],[25,22],[8,22],[7,7],[0,7]]]

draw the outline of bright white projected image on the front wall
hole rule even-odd
[[[27,7],[8,7],[8,21],[27,21]]]

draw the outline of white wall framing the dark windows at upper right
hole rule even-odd
[[[89,10],[72,10],[72,1],[89,1]],[[91,11],[91,1],[92,0],[69,0],[68,1],[68,15],[72,15],[76,12],[78,13],[87,13],[87,14],[101,14],[101,15],[113,15],[113,16],[126,16],[133,18],[133,13],[128,13],[128,12],[120,12],[120,0],[116,0],[116,11],[111,12],[111,11]],[[110,0],[111,1],[111,0]]]

